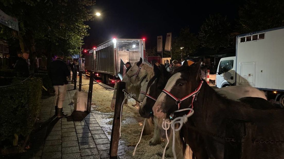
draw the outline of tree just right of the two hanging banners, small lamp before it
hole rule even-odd
[[[193,54],[199,47],[197,36],[190,32],[189,27],[182,28],[179,36],[172,42],[172,59],[183,59]]]

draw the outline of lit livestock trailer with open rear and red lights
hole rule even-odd
[[[124,63],[133,65],[145,57],[145,39],[112,38],[85,54],[86,75],[93,72],[102,78],[103,83],[122,80]]]

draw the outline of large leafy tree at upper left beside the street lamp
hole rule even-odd
[[[51,59],[51,53],[70,50],[79,53],[83,37],[87,36],[89,26],[83,22],[92,20],[86,7],[95,1],[80,0],[0,0],[1,9],[10,16],[18,18],[19,32],[1,26],[1,38],[18,39],[24,51],[35,58],[41,52]],[[74,53],[75,53],[74,52]]]

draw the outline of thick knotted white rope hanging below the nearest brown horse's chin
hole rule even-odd
[[[187,122],[187,118],[189,118],[191,115],[193,115],[194,111],[193,109],[191,108],[185,108],[185,109],[181,109],[181,110],[177,110],[177,111],[174,111],[174,113],[176,112],[181,112],[181,111],[186,111],[186,110],[189,110],[191,111],[190,113],[188,113],[187,115],[183,115],[182,117],[177,117],[175,118],[174,120],[172,120],[171,122],[167,121],[167,120],[164,120],[163,123],[162,123],[162,128],[167,131],[169,128],[166,126],[166,124],[169,124],[173,130],[173,145],[172,145],[172,152],[173,152],[173,156],[174,156],[174,159],[177,159],[177,156],[176,156],[176,149],[175,149],[175,132],[176,131],[179,131],[181,129],[181,127],[183,126],[184,123]],[[176,124],[179,124],[179,127],[178,128],[175,128],[175,125]],[[166,137],[167,137],[167,134],[166,134]],[[167,138],[167,145],[169,143],[169,139]],[[163,159],[165,157],[165,152],[166,152],[166,147],[164,148],[164,152],[163,152]]]

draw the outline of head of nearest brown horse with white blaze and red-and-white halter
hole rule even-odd
[[[190,66],[184,62],[174,71],[158,96],[152,109],[154,115],[164,119],[178,109],[188,108],[194,97],[185,97],[194,92],[199,87],[199,83],[201,83],[200,61]]]

